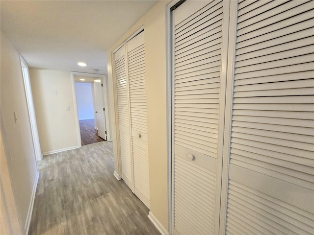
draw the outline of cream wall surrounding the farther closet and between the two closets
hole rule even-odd
[[[118,146],[112,75],[113,51],[136,30],[144,26],[147,86],[150,210],[163,229],[168,226],[167,188],[167,79],[166,79],[166,5],[158,1],[131,29],[107,50],[110,125],[115,171],[119,172]]]

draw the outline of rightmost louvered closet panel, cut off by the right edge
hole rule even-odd
[[[240,1],[226,233],[314,234],[314,2]]]

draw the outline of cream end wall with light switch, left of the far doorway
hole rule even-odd
[[[43,155],[80,147],[71,72],[29,68],[29,77]]]

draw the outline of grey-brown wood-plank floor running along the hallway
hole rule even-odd
[[[38,162],[29,235],[160,235],[148,208],[113,176],[112,142]]]

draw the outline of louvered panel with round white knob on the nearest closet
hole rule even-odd
[[[220,0],[185,1],[173,11],[174,234],[218,233],[223,9]]]

